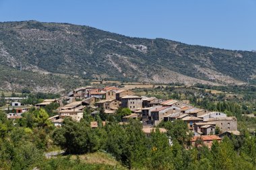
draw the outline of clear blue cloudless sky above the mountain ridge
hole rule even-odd
[[[0,0],[0,22],[25,20],[256,50],[256,0]]]

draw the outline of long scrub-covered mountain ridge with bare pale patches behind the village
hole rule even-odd
[[[0,23],[1,89],[61,91],[88,79],[242,84],[255,79],[255,65],[256,53],[249,51],[131,38],[72,24]]]

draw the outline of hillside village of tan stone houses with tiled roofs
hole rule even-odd
[[[14,98],[13,98],[14,99]],[[12,106],[22,106],[22,103],[16,101]],[[156,97],[138,96],[129,89],[119,89],[119,87],[96,88],[92,86],[80,87],[69,92],[59,99],[44,99],[42,103],[36,103],[35,108],[44,108],[51,103],[58,103],[59,114],[49,118],[55,126],[62,126],[66,117],[79,122],[84,116],[85,108],[90,108],[95,116],[99,109],[104,110],[104,114],[116,114],[119,108],[129,108],[131,114],[123,116],[119,124],[129,124],[131,119],[139,120],[143,125],[143,132],[150,136],[151,132],[156,130],[160,122],[183,120],[189,130],[193,133],[191,144],[200,138],[205,146],[211,148],[213,140],[222,140],[224,136],[240,135],[237,130],[237,120],[234,116],[228,117],[222,112],[210,112],[201,108],[195,108],[189,104],[189,101],[179,101],[175,99],[157,99]],[[10,120],[22,118],[22,114],[30,108],[23,105],[12,113],[7,114]],[[5,109],[5,112],[7,109]],[[102,122],[103,126],[107,122]],[[91,122],[91,128],[98,128],[98,122]],[[160,128],[160,132],[166,132],[166,129]],[[171,141],[170,141],[171,144]]]

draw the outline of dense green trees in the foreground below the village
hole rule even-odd
[[[120,110],[119,114],[129,114]],[[49,114],[32,109],[12,122],[0,114],[0,169],[255,169],[256,138],[241,127],[241,136],[214,142],[212,149],[200,140],[191,146],[191,133],[182,121],[162,122],[166,134],[157,129],[147,137],[141,123],[120,125],[115,116],[92,117],[73,122],[65,118],[61,128],[48,120]],[[90,122],[98,128],[90,128]],[[107,120],[106,126],[102,121]],[[172,140],[170,145],[169,140]],[[49,151],[63,149],[64,155],[46,159]],[[79,155],[106,153],[120,165],[84,163]],[[75,158],[73,155],[76,155]]]

